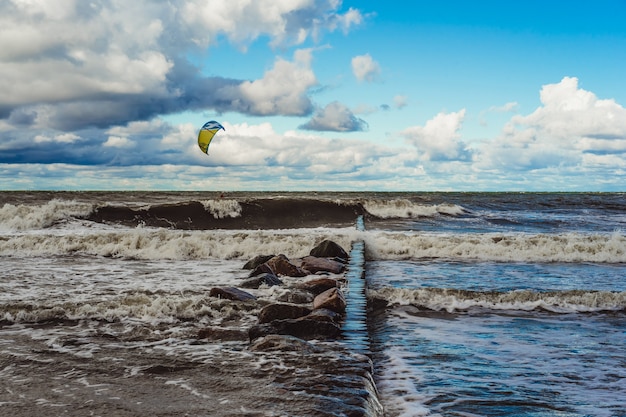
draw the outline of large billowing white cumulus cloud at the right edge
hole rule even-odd
[[[513,116],[501,135],[482,147],[481,169],[584,167],[599,161],[588,154],[626,157],[626,109],[612,99],[598,99],[564,77],[544,85],[541,106],[529,115]],[[604,158],[615,161],[614,158]]]

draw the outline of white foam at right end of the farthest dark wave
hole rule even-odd
[[[437,214],[458,216],[465,209],[456,204],[417,204],[406,199],[365,200],[363,207],[372,215],[382,219],[433,217]]]

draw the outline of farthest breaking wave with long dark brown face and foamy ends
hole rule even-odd
[[[181,230],[281,229],[345,226],[359,216],[369,220],[460,216],[455,204],[418,204],[408,199],[216,198],[153,202],[52,199],[40,204],[4,204],[0,230],[45,229],[59,222],[152,226]]]

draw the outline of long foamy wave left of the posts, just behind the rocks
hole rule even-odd
[[[66,256],[74,254],[131,259],[250,259],[259,254],[302,257],[324,239],[348,250],[353,228],[307,230],[181,231],[134,228],[82,230],[80,233],[22,233],[0,237],[0,256]]]

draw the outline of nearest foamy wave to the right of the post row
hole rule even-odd
[[[448,288],[381,288],[368,290],[368,298],[392,305],[412,305],[434,311],[546,310],[555,313],[626,310],[626,292],[610,291],[469,291]]]

